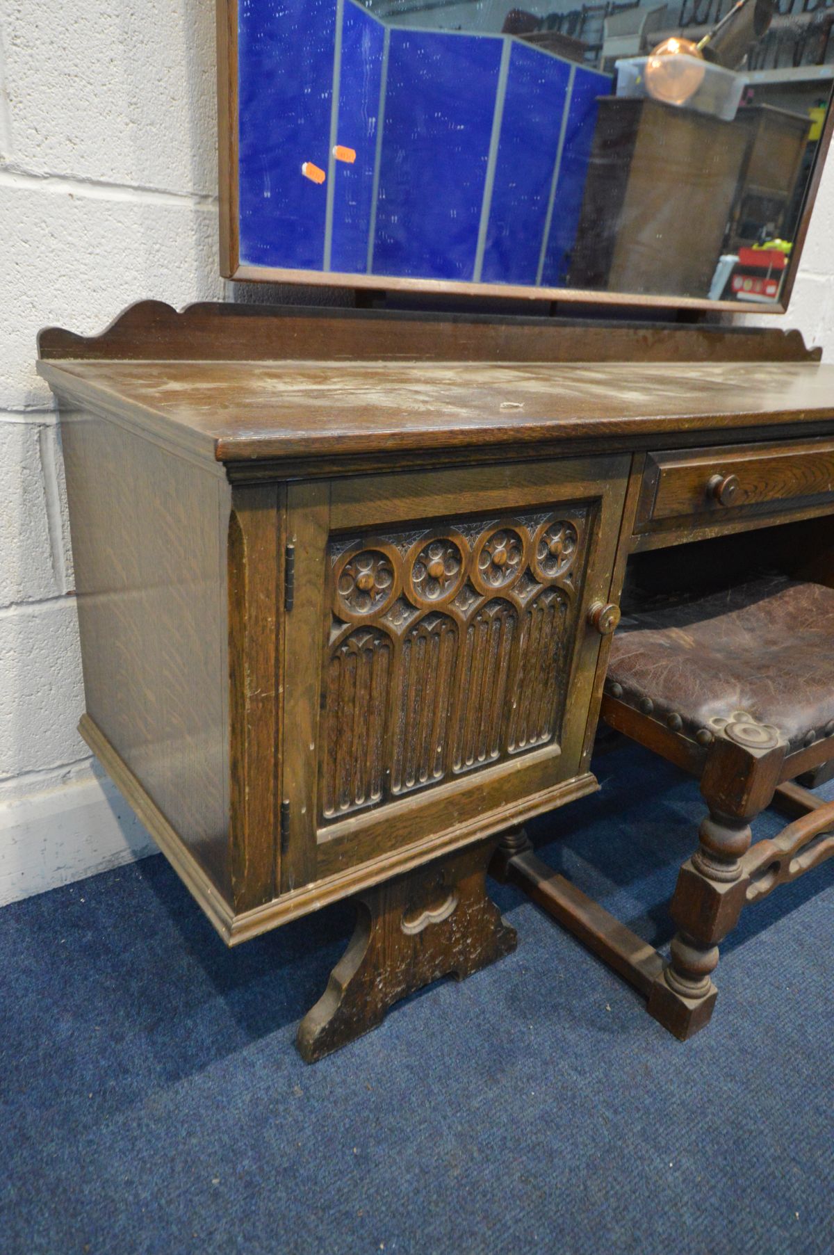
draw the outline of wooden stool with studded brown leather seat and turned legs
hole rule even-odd
[[[719,943],[742,909],[834,855],[834,802],[795,783],[834,761],[834,590],[783,576],[623,619],[602,704],[618,732],[700,776],[709,813],[671,901],[662,958],[510,835],[500,878],[530,894],[685,1039],[709,1023]],[[751,846],[771,803],[795,822]]]

